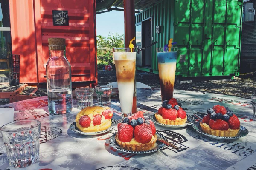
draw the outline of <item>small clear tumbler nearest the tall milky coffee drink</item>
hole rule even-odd
[[[108,106],[111,104],[112,85],[96,85],[95,90],[99,106]]]

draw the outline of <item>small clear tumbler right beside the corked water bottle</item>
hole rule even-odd
[[[76,88],[76,100],[79,109],[93,106],[94,88]]]

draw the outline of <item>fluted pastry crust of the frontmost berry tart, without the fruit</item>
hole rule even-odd
[[[115,139],[117,144],[126,150],[144,151],[144,150],[150,150],[155,147],[155,143],[157,142],[157,135],[152,136],[151,141],[145,144],[137,142],[134,138],[131,139],[130,142],[122,142],[118,139],[117,134]]]

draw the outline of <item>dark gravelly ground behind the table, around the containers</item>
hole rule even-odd
[[[98,71],[98,84],[106,85],[116,82],[116,71]],[[159,76],[157,74],[148,74],[145,72],[137,72],[137,82],[144,83],[152,88],[160,88]],[[1,84],[0,92],[15,91],[21,85],[9,86],[9,84]],[[188,91],[203,91],[215,94],[226,94],[250,99],[251,94],[256,94],[256,77],[239,78],[235,77],[233,81],[201,81],[185,84],[175,84],[175,89]],[[29,95],[35,87],[28,86],[21,93]],[[47,96],[47,89],[38,88],[33,96]]]

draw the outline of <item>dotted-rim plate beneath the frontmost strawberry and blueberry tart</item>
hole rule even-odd
[[[161,133],[156,133],[156,135],[159,135],[160,137],[162,137],[163,139],[166,139],[166,136],[164,136]],[[116,133],[114,133],[110,138],[109,138],[109,143],[110,145],[115,148],[116,150],[119,150],[121,152],[126,152],[126,153],[134,153],[134,154],[144,154],[144,153],[152,153],[152,152],[156,152],[160,149],[163,149],[163,147],[165,147],[166,144],[163,144],[162,142],[157,141],[156,142],[156,146],[154,148],[152,148],[151,150],[145,150],[145,151],[131,151],[131,150],[126,150],[122,147],[119,147],[119,145],[116,143],[115,140],[115,136]]]

